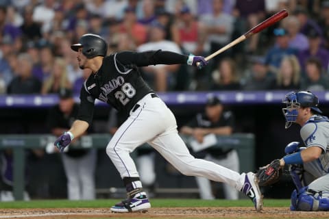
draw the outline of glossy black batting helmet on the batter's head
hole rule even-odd
[[[77,44],[71,45],[71,49],[78,51],[82,48],[82,54],[88,58],[95,56],[106,56],[108,44],[103,38],[96,34],[84,34]]]

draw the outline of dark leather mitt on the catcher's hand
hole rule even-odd
[[[256,172],[258,178],[258,185],[267,186],[279,181],[282,175],[282,168],[280,166],[280,159],[274,159],[271,164],[259,168]]]

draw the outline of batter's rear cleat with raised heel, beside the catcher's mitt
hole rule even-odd
[[[263,209],[263,195],[260,192],[258,179],[254,172],[248,172],[245,175],[245,183],[243,183],[241,191],[252,200],[256,211]]]

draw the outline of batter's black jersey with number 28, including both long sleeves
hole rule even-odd
[[[106,56],[97,71],[84,81],[80,92],[77,119],[91,123],[95,99],[112,105],[129,115],[132,107],[146,94],[154,92],[138,71],[139,66],[155,64],[186,64],[187,55],[169,51],[123,51]]]

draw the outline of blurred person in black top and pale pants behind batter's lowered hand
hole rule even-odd
[[[60,102],[49,110],[47,125],[51,133],[60,136],[69,130],[77,116],[79,105],[74,102],[72,90],[59,92]],[[80,139],[73,141],[71,149],[61,153],[67,178],[69,200],[95,199],[95,149],[74,149]]]

